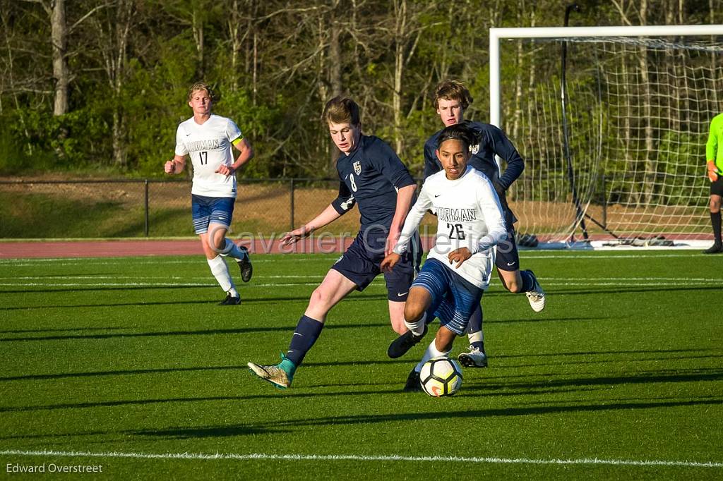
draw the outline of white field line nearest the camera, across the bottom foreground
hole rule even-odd
[[[119,451],[93,453],[89,451],[0,451],[1,456],[59,456],[59,457],[91,457],[91,458],[132,458],[132,459],[273,459],[281,461],[396,461],[396,462],[461,462],[461,463],[487,463],[487,464],[609,464],[612,466],[677,466],[723,468],[721,462],[695,462],[695,461],[665,461],[632,459],[531,459],[531,458],[498,458],[498,457],[463,457],[463,456],[397,456],[397,455],[371,455],[359,454],[233,454],[233,453],[124,453]]]

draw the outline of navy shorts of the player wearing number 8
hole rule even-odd
[[[331,267],[356,284],[356,290],[364,290],[372,280],[382,273],[380,264],[384,260],[386,233],[370,234],[366,241],[361,233],[356,235],[343,256]],[[410,241],[410,248],[394,266],[392,272],[384,273],[387,284],[387,298],[395,302],[406,301],[409,286],[419,272],[422,263],[422,242],[419,235]]]

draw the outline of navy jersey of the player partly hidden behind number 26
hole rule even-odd
[[[502,188],[507,190],[512,183],[525,170],[525,162],[520,157],[515,146],[510,142],[504,132],[489,123],[465,121],[466,126],[479,132],[482,136],[478,145],[471,147],[472,156],[469,165],[487,175],[493,183],[499,182]],[[424,144],[424,178],[442,170],[442,164],[437,159],[437,139],[442,131],[437,131],[429,137]],[[495,162],[495,154],[507,162],[505,173],[500,175],[500,170]]]

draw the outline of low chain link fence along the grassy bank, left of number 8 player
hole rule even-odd
[[[231,237],[268,238],[311,220],[335,199],[338,180],[239,179]],[[0,238],[193,236],[187,180],[0,181]],[[354,209],[325,229],[354,235]]]

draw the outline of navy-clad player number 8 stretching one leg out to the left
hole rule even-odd
[[[354,242],[312,293],[281,363],[248,363],[254,374],[280,388],[291,386],[296,368],[321,334],[331,308],[351,291],[364,290],[381,273],[380,264],[399,239],[416,189],[414,179],[388,144],[361,134],[359,106],[354,100],[334,97],[326,104],[323,120],[341,151],[336,161],[339,195],[320,215],[284,235],[282,242],[289,245],[299,241],[349,212],[354,204],[359,205],[361,227]],[[406,332],[404,303],[422,255],[419,236],[413,243],[416,252],[410,249],[394,269],[384,274],[389,316],[398,334]]]

